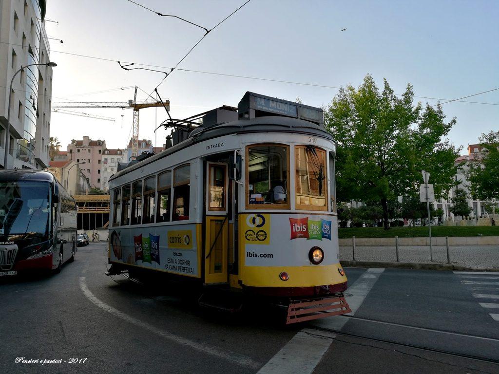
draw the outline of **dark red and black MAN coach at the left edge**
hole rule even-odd
[[[76,253],[76,203],[44,171],[0,171],[0,276],[60,272]]]

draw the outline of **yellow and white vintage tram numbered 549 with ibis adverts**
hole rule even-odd
[[[173,120],[173,146],[111,177],[108,273],[259,295],[287,323],[348,313],[322,110],[247,92],[203,115]]]

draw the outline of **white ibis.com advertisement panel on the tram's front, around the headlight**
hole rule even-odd
[[[321,264],[339,262],[334,215],[254,213],[242,217],[246,266],[316,266],[308,258],[314,246],[324,252]]]

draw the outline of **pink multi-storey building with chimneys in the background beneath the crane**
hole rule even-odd
[[[83,140],[72,140],[67,146],[68,160],[81,164],[79,168],[90,181],[92,187],[102,188],[101,162],[106,149],[105,140],[92,140],[84,136]]]

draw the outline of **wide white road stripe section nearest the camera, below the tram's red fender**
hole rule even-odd
[[[335,337],[336,334],[333,333],[303,329],[282,347],[257,374],[312,373]]]

